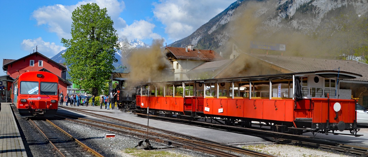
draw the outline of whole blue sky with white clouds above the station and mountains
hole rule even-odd
[[[0,0],[0,65],[33,52],[51,58],[66,49],[71,13],[86,3],[107,8],[120,38],[170,44],[192,34],[236,0]],[[188,43],[189,44],[189,43]],[[0,70],[0,76],[6,75]]]

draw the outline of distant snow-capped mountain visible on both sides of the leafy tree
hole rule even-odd
[[[149,48],[150,46],[138,39],[134,39],[132,41],[128,41],[128,39],[119,38],[118,42],[120,43],[121,50],[115,52],[115,58],[118,60],[116,63],[113,63],[113,66],[116,67],[114,72],[123,72],[122,69],[117,68],[120,64],[124,65],[126,61],[124,60],[127,55],[133,50],[137,48]],[[51,57],[50,59],[55,61],[56,63],[64,63],[65,59],[62,56],[66,50],[62,50],[57,53],[55,56]],[[67,74],[68,75],[68,74]]]

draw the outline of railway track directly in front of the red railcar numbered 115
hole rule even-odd
[[[79,140],[72,137],[70,134],[65,132],[63,129],[54,125],[49,120],[46,121],[32,121],[29,120],[33,126],[43,137],[46,138],[47,142],[54,148],[57,154],[61,157],[68,156],[96,156],[103,157],[95,150],[89,148]]]

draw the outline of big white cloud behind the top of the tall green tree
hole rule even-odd
[[[125,21],[118,17],[125,8],[125,4],[123,1],[119,2],[117,0],[86,0],[71,6],[61,4],[44,6],[33,11],[32,17],[36,19],[37,25],[46,25],[49,31],[55,32],[60,39],[70,39],[72,12],[75,8],[87,3],[96,3],[100,8],[107,8],[107,15],[115,22],[114,26],[126,27]]]

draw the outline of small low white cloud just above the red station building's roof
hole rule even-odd
[[[53,57],[60,51],[66,49],[64,46],[56,45],[54,42],[45,42],[42,40],[41,37],[38,37],[36,39],[24,39],[21,43],[21,46],[23,50],[26,50],[28,52],[32,52],[33,49],[35,49],[36,52],[37,46],[37,51],[42,53],[46,57]]]

